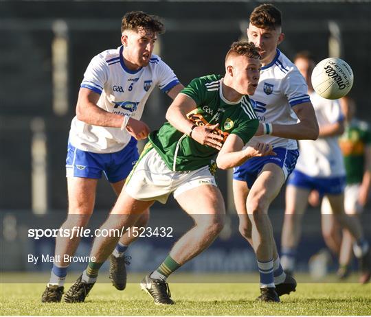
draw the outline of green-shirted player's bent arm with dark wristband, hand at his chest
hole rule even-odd
[[[209,145],[212,148],[220,150],[222,147],[223,137],[214,134],[212,131],[218,126],[195,126],[187,118],[187,113],[196,108],[196,102],[188,95],[179,93],[166,112],[166,119],[177,130],[189,135],[203,145]]]

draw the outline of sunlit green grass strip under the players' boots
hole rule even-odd
[[[256,277],[257,279],[257,277]],[[279,304],[258,303],[256,283],[171,283],[175,305],[155,305],[137,283],[93,287],[85,303],[41,303],[45,284],[2,283],[1,315],[369,315],[371,285],[300,283]],[[69,287],[69,285],[67,285]]]

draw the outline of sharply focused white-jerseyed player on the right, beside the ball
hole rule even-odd
[[[234,201],[240,233],[253,246],[258,260],[258,299],[278,302],[278,296],[295,290],[296,281],[286,276],[280,265],[267,215],[269,204],[295,167],[299,153],[293,139],[317,139],[318,126],[304,78],[277,49],[284,39],[280,10],[271,4],[256,7],[247,36],[262,58],[258,88],[251,96],[260,126],[257,137],[250,141],[271,143],[277,156],[252,158],[234,169]]]

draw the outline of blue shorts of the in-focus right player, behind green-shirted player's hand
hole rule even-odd
[[[273,151],[276,152],[276,156],[253,157],[243,163],[243,165],[234,167],[233,178],[235,180],[244,180],[247,183],[247,187],[251,188],[262,168],[268,163],[281,167],[284,177],[287,178],[295,168],[299,150],[274,148]]]

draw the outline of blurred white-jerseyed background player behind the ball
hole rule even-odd
[[[286,210],[282,228],[282,266],[293,272],[295,268],[295,253],[301,234],[302,215],[307,206],[312,190],[319,196],[326,196],[331,213],[324,214],[322,209],[322,232],[328,233],[334,219],[346,228],[355,238],[355,253],[361,259],[362,270],[370,271],[369,247],[364,239],[361,224],[357,218],[350,218],[344,211],[344,188],[346,171],[343,156],[337,137],[344,132],[344,115],[341,113],[337,100],[324,99],[317,95],[311,84],[311,74],[315,67],[313,57],[308,52],[302,52],[295,57],[295,64],[300,70],[315,108],[319,124],[319,139],[316,141],[300,140],[300,157],[286,187]],[[339,246],[326,239],[331,250]]]

